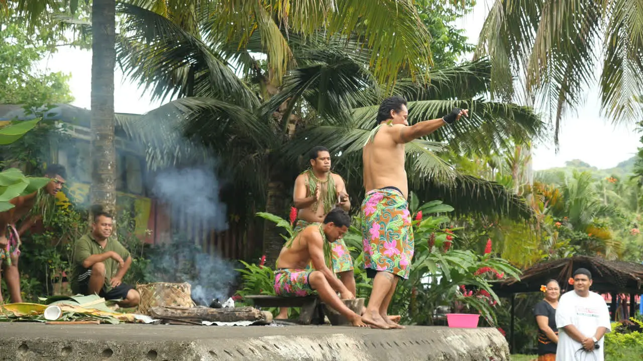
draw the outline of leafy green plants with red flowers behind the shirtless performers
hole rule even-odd
[[[433,324],[433,310],[439,306],[452,306],[456,311],[480,312],[489,324],[496,324],[494,306],[500,303],[491,286],[498,277],[518,277],[518,269],[491,254],[476,254],[462,249],[449,249],[457,235],[454,229],[443,229],[450,220],[438,213],[453,211],[453,207],[433,200],[419,205],[417,197],[410,196],[410,211],[422,212],[422,218],[413,221],[415,254],[409,279],[397,285],[391,314],[399,314],[403,322],[411,324]],[[278,216],[262,213],[260,216],[288,229],[289,223]],[[354,260],[354,275],[357,285],[356,297],[368,299],[370,290],[366,272],[363,269],[361,219],[355,216],[343,240],[349,247]],[[449,244],[447,244],[449,242]],[[457,243],[456,243],[457,244]],[[274,275],[264,265],[250,265],[243,262],[242,287],[237,295],[274,295]],[[464,292],[462,287],[469,287]],[[466,288],[465,288],[466,289]],[[429,311],[429,312],[428,312]]]

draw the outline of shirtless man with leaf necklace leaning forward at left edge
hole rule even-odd
[[[10,203],[15,207],[0,213],[0,269],[13,303],[20,303],[23,297],[20,294],[20,272],[18,258],[20,256],[20,236],[35,222],[48,217],[55,206],[55,196],[65,184],[66,171],[59,164],[50,164],[45,172],[45,177],[51,179],[44,188],[29,195],[15,197]],[[24,216],[19,229],[16,222]],[[0,294],[0,302],[3,298]]]

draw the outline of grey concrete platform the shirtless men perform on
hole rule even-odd
[[[494,328],[0,323],[0,360],[509,361]]]

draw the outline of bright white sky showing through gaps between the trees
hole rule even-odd
[[[480,1],[473,13],[458,23],[466,30],[469,41],[474,43],[482,28],[487,13],[485,0]],[[89,109],[91,94],[91,52],[69,47],[60,48],[51,57],[41,62],[41,68],[50,71],[71,73],[69,87],[75,97],[73,105]],[[136,84],[116,70],[114,109],[116,112],[142,114],[161,103],[153,103],[147,94],[138,90]],[[553,139],[544,145],[537,145],[534,151],[534,170],[564,166],[565,161],[581,159],[598,168],[611,168],[619,162],[632,157],[637,152],[639,136],[634,125],[614,127],[610,121],[599,115],[599,93],[588,89],[584,107],[577,114],[569,114],[563,119],[560,136],[560,149],[554,152]],[[540,112],[547,111],[539,109]]]

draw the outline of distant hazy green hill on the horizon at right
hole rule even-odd
[[[636,162],[637,157],[631,157],[626,161],[620,162],[614,168],[608,169],[599,169],[595,166],[591,166],[588,163],[581,161],[580,159],[574,159],[573,161],[565,162],[564,167],[549,168],[547,170],[540,170],[534,173],[534,180],[544,183],[552,183],[558,179],[558,174],[563,173],[572,173],[574,170],[577,172],[590,172],[595,175],[597,179],[615,177],[616,179],[625,179],[633,175],[634,172],[634,163]]]

